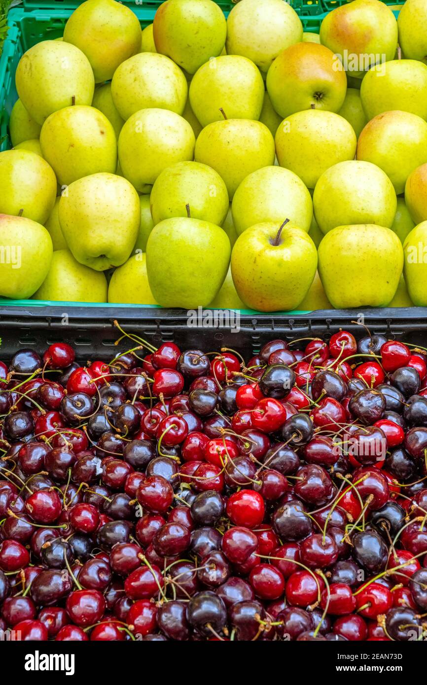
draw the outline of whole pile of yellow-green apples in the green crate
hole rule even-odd
[[[426,0],[87,0],[16,69],[0,295],[427,306],[426,55]]]

